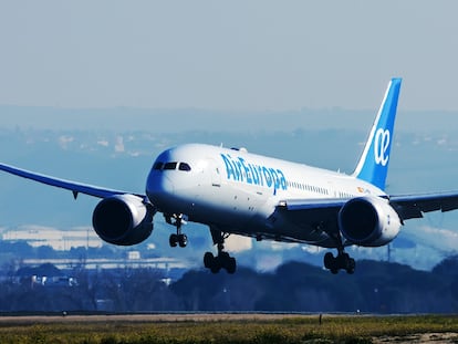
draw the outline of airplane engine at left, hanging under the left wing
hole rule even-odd
[[[94,209],[92,225],[102,240],[131,246],[146,240],[153,231],[154,212],[134,195],[103,199]]]

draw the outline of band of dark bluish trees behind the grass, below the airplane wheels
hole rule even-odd
[[[233,275],[189,271],[171,284],[153,269],[89,271],[75,267],[65,274],[77,283],[42,285],[30,275],[18,278],[9,267],[2,273],[0,311],[458,312],[456,257],[431,272],[360,261],[354,275],[332,275],[318,267],[290,262],[273,273],[247,268]]]

